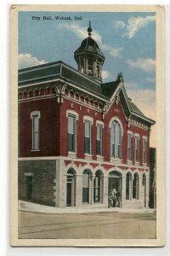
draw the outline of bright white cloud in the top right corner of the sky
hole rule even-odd
[[[133,38],[141,28],[148,26],[150,22],[155,20],[156,16],[131,17],[129,20],[127,20],[127,24],[122,20],[116,20],[115,26],[125,30],[125,32],[122,34],[122,38]]]

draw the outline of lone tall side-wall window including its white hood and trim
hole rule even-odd
[[[39,119],[40,112],[33,111],[31,112],[32,119],[32,150],[39,150],[40,142],[39,142]]]

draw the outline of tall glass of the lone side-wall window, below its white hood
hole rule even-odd
[[[39,117],[37,114],[32,116],[33,122],[33,142],[32,142],[32,149],[38,150],[39,149]]]

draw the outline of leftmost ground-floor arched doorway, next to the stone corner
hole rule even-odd
[[[66,206],[75,207],[75,191],[76,191],[76,182],[75,182],[75,170],[70,168],[67,172],[66,180]]]

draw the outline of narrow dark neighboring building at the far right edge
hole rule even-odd
[[[156,148],[150,148],[150,208],[156,208]]]

